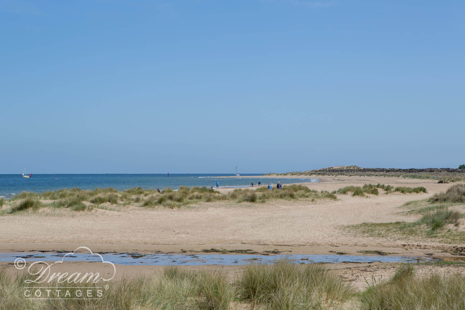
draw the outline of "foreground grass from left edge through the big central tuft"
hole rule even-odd
[[[136,277],[112,282],[101,300],[24,299],[26,272],[19,276],[0,270],[0,309],[312,309],[337,306],[352,298],[351,284],[318,264],[247,266],[236,280],[220,271],[191,271],[165,267],[157,277]],[[91,283],[56,282],[46,286],[86,291]],[[66,287],[66,288],[64,288]]]

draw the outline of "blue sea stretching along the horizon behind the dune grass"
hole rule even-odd
[[[0,174],[0,196],[11,198],[21,191],[53,191],[61,188],[79,187],[91,190],[96,187],[113,187],[117,190],[141,186],[144,189],[163,189],[179,186],[216,186],[246,187],[262,184],[318,182],[313,178],[252,178],[257,174],[242,174],[238,178],[220,178],[233,174],[33,174],[31,178],[23,178],[20,174]],[[57,178],[57,179],[55,179]]]

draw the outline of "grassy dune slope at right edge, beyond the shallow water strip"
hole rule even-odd
[[[465,213],[465,185],[456,184],[447,191],[433,195],[427,200],[410,201],[403,207],[409,207],[405,214],[419,214],[416,221],[392,223],[362,223],[346,226],[346,229],[358,235],[370,237],[389,237],[400,239],[405,237],[434,238],[446,244],[463,244],[465,232],[459,230],[461,219]],[[450,209],[450,207],[454,207]]]

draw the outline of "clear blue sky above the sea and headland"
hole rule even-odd
[[[456,168],[464,7],[0,0],[0,172]]]

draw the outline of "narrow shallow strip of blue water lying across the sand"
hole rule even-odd
[[[60,253],[60,254],[57,254]],[[61,261],[66,254],[60,252],[12,252],[0,253],[0,262],[14,262],[17,258],[23,258],[26,262],[35,261]],[[418,261],[437,260],[432,257],[402,257],[402,256],[372,256],[372,255],[234,255],[234,254],[209,254],[209,255],[185,255],[185,254],[142,254],[142,253],[104,253],[103,260],[113,264],[123,265],[245,265],[251,263],[273,264],[279,260],[292,260],[296,264],[312,263],[372,263],[372,262],[403,262],[413,263]],[[64,261],[70,262],[99,262],[98,255],[90,253],[73,253],[67,255]]]

